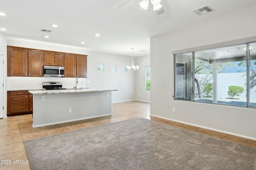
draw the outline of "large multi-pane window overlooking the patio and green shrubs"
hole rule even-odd
[[[256,43],[174,55],[174,99],[256,107]]]

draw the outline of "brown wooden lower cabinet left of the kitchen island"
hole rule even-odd
[[[28,94],[28,91],[8,91],[7,92],[7,116],[25,115],[25,114],[32,113],[33,111],[32,97],[30,97],[30,95]]]

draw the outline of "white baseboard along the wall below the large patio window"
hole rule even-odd
[[[156,116],[156,115],[150,115],[150,116],[158,117],[158,118],[161,118],[161,119],[166,119],[166,120],[174,121],[174,122],[178,122],[178,123],[183,123],[183,124],[191,125],[191,126],[194,126],[194,127],[205,128],[205,129],[213,130],[213,131],[216,131],[216,132],[222,132],[222,133],[230,134],[230,135],[233,135],[233,136],[238,136],[238,137],[241,137],[241,138],[256,140],[256,138],[252,138],[252,137],[250,137],[250,136],[244,136],[244,135],[241,135],[241,134],[236,134],[236,133],[232,133],[232,132],[227,132],[227,131],[224,131],[224,130],[218,130],[218,129],[215,129],[215,128],[204,127],[204,126],[200,126],[200,125],[196,125],[196,124],[192,124],[192,123],[187,123],[187,122],[183,122],[183,121],[177,121],[177,120],[174,120],[174,119],[168,119],[168,118],[160,117],[160,116]]]

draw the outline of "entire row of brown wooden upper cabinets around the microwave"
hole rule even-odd
[[[44,65],[64,67],[64,77],[87,77],[87,55],[7,46],[8,76],[43,77]]]

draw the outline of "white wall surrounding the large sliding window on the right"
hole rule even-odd
[[[256,140],[256,109],[172,99],[172,51],[256,36],[255,8],[234,11],[150,39],[151,115]],[[172,107],[176,112],[172,112]]]

